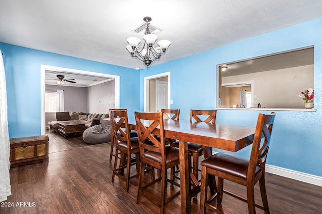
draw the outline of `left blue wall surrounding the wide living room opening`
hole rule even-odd
[[[0,43],[8,97],[9,136],[41,134],[41,65],[120,76],[120,108],[140,109],[140,73],[134,69]]]

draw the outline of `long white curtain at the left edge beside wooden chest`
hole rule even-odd
[[[4,59],[0,50],[0,201],[11,195],[10,186],[10,140],[8,129],[8,106]]]

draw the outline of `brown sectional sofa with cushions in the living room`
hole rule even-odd
[[[69,115],[69,112],[56,112],[56,121],[50,122],[50,129],[57,132],[58,122],[61,121],[82,121],[85,122],[85,127],[89,128],[94,125],[100,124],[101,118],[108,118],[109,114],[97,114],[97,113],[84,113],[84,112],[74,112],[72,111]]]

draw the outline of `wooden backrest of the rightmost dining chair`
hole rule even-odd
[[[275,115],[276,114],[274,112],[271,114],[258,115],[247,177],[254,177],[256,167],[258,166],[265,171],[266,158],[271,141]],[[263,143],[261,143],[262,141]]]

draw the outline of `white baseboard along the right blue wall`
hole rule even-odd
[[[322,186],[322,177],[320,177],[320,176],[307,174],[307,173],[294,171],[291,169],[281,168],[278,166],[273,166],[273,165],[268,165],[268,164],[266,164],[265,171],[272,173],[272,174],[280,175],[283,177],[288,177],[288,178],[291,178],[294,180],[299,180],[299,181],[302,181],[305,183],[310,183],[310,184],[314,184],[317,186]]]

